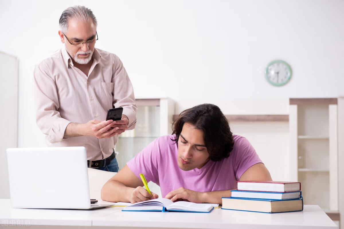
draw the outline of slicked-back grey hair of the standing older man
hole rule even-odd
[[[58,21],[62,33],[67,32],[68,20],[71,18],[78,19],[80,21],[89,21],[91,19],[97,27],[97,19],[92,10],[84,7],[83,5],[73,5],[62,12],[60,20]]]

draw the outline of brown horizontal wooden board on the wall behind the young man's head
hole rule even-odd
[[[225,115],[229,122],[288,122],[289,115]],[[176,120],[179,115],[173,115]]]

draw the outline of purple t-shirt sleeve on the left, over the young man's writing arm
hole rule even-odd
[[[156,184],[159,184],[158,165],[161,156],[159,142],[159,138],[155,139],[139,154],[127,162],[127,166],[135,176],[140,178],[140,173],[142,173],[147,182],[152,181]]]

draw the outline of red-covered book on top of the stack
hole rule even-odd
[[[301,190],[300,182],[288,181],[237,181],[238,190],[262,192],[295,192]]]

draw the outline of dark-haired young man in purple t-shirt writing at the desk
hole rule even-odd
[[[153,198],[139,174],[160,185],[162,197],[172,201],[221,204],[236,181],[271,181],[255,149],[246,138],[233,135],[222,111],[202,104],[183,111],[173,134],[153,141],[102,188],[102,200],[136,203]]]

